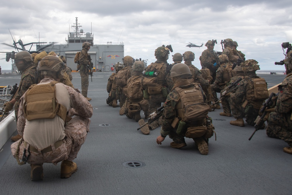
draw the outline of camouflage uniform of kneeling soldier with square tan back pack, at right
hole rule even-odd
[[[249,114],[245,113],[245,108],[242,107],[242,104],[244,103],[244,101],[246,100],[245,97],[247,96],[246,92],[248,90],[251,90],[250,85],[248,83],[248,79],[252,79],[252,78],[260,78],[256,75],[255,72],[250,72],[247,73],[246,77],[244,77],[237,85],[237,89],[236,91],[230,95],[230,108],[232,111],[232,114],[234,116],[234,118],[246,118],[246,122],[249,125],[254,126],[255,123],[254,121],[256,120],[257,116],[258,116],[258,112],[260,110],[260,107],[263,104],[263,100],[247,100],[248,104],[245,106],[245,108],[248,105],[252,105],[253,108],[252,112],[250,112]]]

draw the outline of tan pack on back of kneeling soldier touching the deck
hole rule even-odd
[[[191,123],[207,117],[210,107],[204,101],[204,92],[199,84],[194,83],[194,89],[190,90],[184,90],[179,87],[175,89],[180,95],[182,114],[179,114],[179,117],[183,121]]]

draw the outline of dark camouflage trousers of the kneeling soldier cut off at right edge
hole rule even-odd
[[[267,122],[267,136],[282,139],[292,146],[292,121],[291,114],[271,112]]]

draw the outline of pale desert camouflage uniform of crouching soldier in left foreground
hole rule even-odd
[[[54,80],[51,78],[47,78],[47,79],[41,80],[41,83],[48,83],[51,81],[54,81]],[[63,88],[65,87],[65,89],[67,89],[68,97],[70,99],[69,101],[70,108],[71,108],[67,111],[69,111],[70,116],[75,115],[75,117],[73,117],[72,120],[70,120],[70,122],[65,126],[63,130],[60,130],[65,133],[65,137],[63,139],[63,143],[58,148],[55,148],[54,144],[51,144],[50,146],[52,146],[52,151],[42,153],[41,152],[42,148],[38,149],[37,146],[33,146],[34,148],[39,150],[39,152],[30,151],[30,156],[27,161],[30,164],[53,163],[56,165],[58,162],[64,159],[67,159],[68,161],[72,161],[73,159],[76,158],[81,145],[84,143],[86,139],[87,132],[89,131],[89,124],[90,124],[89,118],[93,114],[93,108],[91,104],[84,97],[82,97],[81,94],[78,93],[76,90],[62,83],[57,83],[56,85],[58,84],[59,86],[62,85]],[[17,130],[20,135],[24,135],[25,137],[26,123],[34,122],[34,120],[32,121],[26,120],[25,114],[23,111],[24,105],[22,105],[23,101],[24,101],[24,96],[22,96],[22,98],[20,99],[20,107],[19,107],[19,115],[18,115],[19,121],[17,124]],[[56,117],[60,118],[58,115],[56,115],[55,118]],[[50,123],[52,119],[36,119],[36,120],[45,122],[46,127],[48,128],[51,127]],[[62,119],[61,121],[62,123],[64,123]],[[38,124],[41,124],[41,123],[38,123]],[[39,128],[36,128],[35,131],[37,133],[39,131]],[[53,137],[53,135],[48,135],[48,136]],[[46,137],[46,138],[50,139],[49,137]],[[16,158],[16,150],[18,148],[18,144],[20,143],[20,141],[22,141],[22,139],[20,139],[19,141],[11,145],[11,152],[15,158]],[[20,152],[19,152],[20,159],[22,159],[22,154],[23,154],[24,149],[27,150],[30,145],[29,143],[26,143],[24,141],[22,141],[20,144]],[[26,155],[27,154],[28,152],[26,153]]]

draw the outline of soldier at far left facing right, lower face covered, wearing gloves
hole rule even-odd
[[[14,107],[15,112],[15,120],[18,122],[18,108],[19,108],[19,100],[21,96],[27,91],[27,89],[32,84],[37,84],[39,82],[37,78],[36,67],[32,60],[32,56],[28,51],[20,51],[15,54],[15,65],[19,71],[21,71],[21,80],[19,83],[18,90],[11,101],[8,101],[4,104],[4,112],[7,113],[12,110]],[[11,137],[12,141],[17,141],[21,139],[22,136],[17,134]]]

